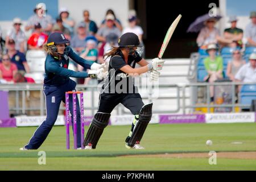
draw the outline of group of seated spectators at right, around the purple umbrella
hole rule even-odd
[[[205,26],[196,40],[199,53],[205,52],[205,55],[199,57],[199,60],[203,58],[203,67],[206,72],[206,76],[200,81],[256,82],[256,51],[250,52],[250,55],[244,55],[247,48],[255,47],[256,50],[256,11],[250,13],[250,21],[243,31],[237,27],[237,17],[231,16],[230,27],[224,30],[222,36],[215,27],[217,19],[209,18],[204,22]],[[244,32],[246,42],[243,40]],[[228,49],[230,53],[225,55],[222,52],[224,49]],[[241,86],[237,86],[236,94],[240,90]],[[214,94],[214,86],[210,86],[209,91],[210,101],[213,102],[214,95],[218,93]]]

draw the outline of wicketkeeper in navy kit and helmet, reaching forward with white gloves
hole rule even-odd
[[[47,44],[44,46],[47,52],[46,62],[44,65],[44,95],[46,97],[47,117],[38,129],[36,129],[28,144],[23,148],[20,148],[20,150],[38,149],[42,145],[57,119],[61,101],[65,102],[65,92],[75,90],[76,88],[76,82],[71,80],[69,77],[85,78],[101,75],[101,72],[98,71],[102,65],[97,63],[92,64],[90,61],[82,59],[73,52],[73,50],[67,45],[68,43],[69,40],[67,40],[63,34],[54,32],[49,35]],[[74,72],[69,70],[69,57],[82,67],[91,69],[91,72]],[[93,72],[92,70],[95,71]],[[69,100],[69,102],[69,110],[73,115],[72,100]],[[79,136],[81,136],[81,131],[79,122],[80,109],[79,102],[77,101],[77,147],[80,148],[81,137]]]

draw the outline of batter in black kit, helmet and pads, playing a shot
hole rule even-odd
[[[150,72],[152,80],[157,80],[159,70],[164,61],[158,58],[147,63],[136,51],[139,46],[138,36],[128,32],[118,40],[119,47],[106,53],[110,57],[109,74],[102,86],[98,111],[94,115],[88,133],[84,140],[85,149],[96,148],[104,128],[108,125],[110,113],[119,103],[134,114],[134,121],[129,136],[126,138],[126,147],[143,149],[139,144],[152,116],[152,103],[144,105],[138,88],[133,84],[131,75],[140,75]],[[141,67],[135,68],[135,64]]]

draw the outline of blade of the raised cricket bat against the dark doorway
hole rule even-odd
[[[180,18],[181,18],[181,15],[177,16],[177,18],[174,20],[174,22],[172,22],[170,28],[168,29],[168,31],[166,33],[166,37],[164,38],[162,47],[161,47],[160,52],[158,54],[159,59],[162,59],[163,53],[164,53],[164,51],[166,51],[166,47],[168,46],[168,43],[169,43],[169,41],[172,37],[172,34],[174,34],[174,30],[177,27],[177,24],[179,23]]]

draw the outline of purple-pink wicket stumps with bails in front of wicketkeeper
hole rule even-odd
[[[74,149],[77,149],[77,106],[76,106],[76,96],[80,94],[80,118],[81,118],[81,147],[84,148],[82,142],[84,142],[84,96],[82,92],[66,92],[65,93],[65,120],[66,120],[66,146],[67,149],[70,148],[69,143],[69,94],[72,94],[72,104],[73,104],[73,135],[74,135]]]

